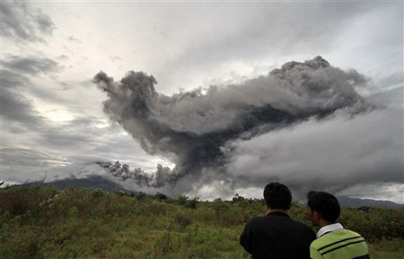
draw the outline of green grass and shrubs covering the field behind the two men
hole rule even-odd
[[[249,258],[239,235],[265,203],[200,202],[54,186],[0,189],[1,258]],[[290,215],[310,226],[305,207]],[[404,258],[404,210],[343,209],[372,258]]]

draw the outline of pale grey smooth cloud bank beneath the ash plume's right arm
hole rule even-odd
[[[403,181],[402,108],[315,119],[233,142],[228,173],[238,186],[270,179],[294,188],[341,190],[374,182]]]

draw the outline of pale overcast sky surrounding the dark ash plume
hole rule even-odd
[[[204,94],[212,85],[242,89],[286,62],[322,56],[344,74],[355,70],[364,81],[355,91],[378,108],[233,137],[221,143],[224,173],[206,168],[180,180],[176,190],[162,190],[260,196],[263,183],[276,179],[296,190],[404,203],[400,1],[55,1],[1,7],[2,180],[23,182],[38,177],[31,169],[94,160],[120,160],[145,171],[159,163],[175,166],[170,154],[145,149],[136,133],[110,120],[103,111],[108,97],[92,82],[100,71],[115,82],[128,71],[145,72],[158,82],[156,92],[171,97],[198,87]],[[168,119],[175,123],[173,114]],[[184,187],[187,181],[191,187]]]

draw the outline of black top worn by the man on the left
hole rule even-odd
[[[240,244],[253,259],[309,259],[316,235],[284,212],[270,212],[245,225]]]

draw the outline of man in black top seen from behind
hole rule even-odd
[[[310,244],[316,235],[306,225],[292,220],[287,211],[292,203],[289,189],[280,183],[265,187],[266,217],[245,225],[240,244],[252,259],[310,259]]]

